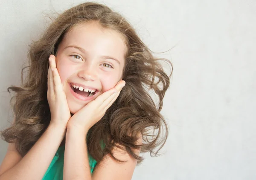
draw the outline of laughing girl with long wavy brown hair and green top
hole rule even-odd
[[[0,180],[131,180],[140,152],[163,147],[172,72],[120,14],[98,3],[68,9],[28,57],[26,82],[8,88],[15,118],[1,133],[9,147]]]

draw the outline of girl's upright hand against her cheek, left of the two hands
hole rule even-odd
[[[52,71],[53,69],[53,71]],[[56,68],[56,57],[49,57],[47,100],[51,112],[50,124],[67,128],[67,122],[71,118],[67,104],[66,94],[61,84],[61,78]]]

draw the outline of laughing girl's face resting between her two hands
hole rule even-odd
[[[122,80],[125,43],[116,31],[95,22],[76,26],[64,36],[56,54],[56,67],[72,114]],[[79,100],[70,83],[97,89],[90,100]]]

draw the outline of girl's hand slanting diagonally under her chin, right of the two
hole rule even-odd
[[[125,81],[119,81],[113,89],[100,94],[95,100],[77,111],[68,121],[67,129],[74,128],[86,133],[104,116],[105,112],[113,102],[115,102],[124,86]]]

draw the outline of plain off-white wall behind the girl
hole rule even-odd
[[[43,13],[81,0],[2,1],[0,128],[11,121],[28,43],[47,25]],[[145,154],[133,180],[256,179],[256,2],[254,0],[107,0],[157,54],[172,60],[162,114],[170,134],[160,157]],[[0,141],[0,162],[7,143]]]

